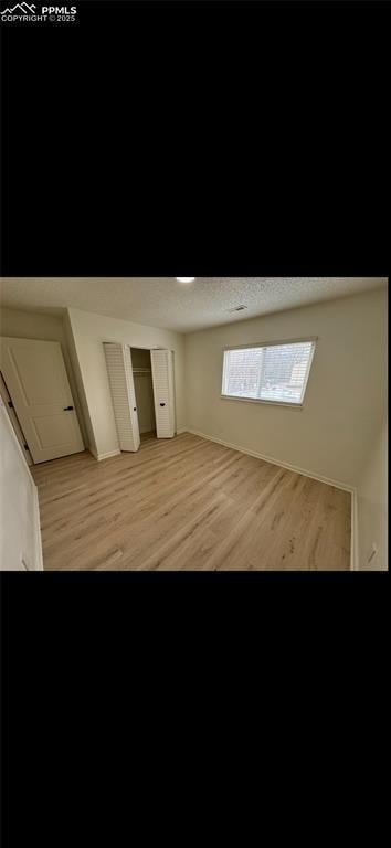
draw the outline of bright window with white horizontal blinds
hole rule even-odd
[[[315,339],[224,350],[222,395],[302,406]]]

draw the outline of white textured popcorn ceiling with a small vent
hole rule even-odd
[[[384,277],[53,277],[0,282],[3,306],[56,314],[64,307],[191,332],[377,288]],[[247,309],[230,314],[240,304]]]

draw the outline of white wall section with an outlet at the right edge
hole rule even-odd
[[[388,422],[371,447],[357,488],[359,568],[388,569]],[[374,542],[378,553],[368,563]]]

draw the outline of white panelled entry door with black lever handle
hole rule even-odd
[[[59,341],[1,338],[0,370],[34,463],[85,449]]]

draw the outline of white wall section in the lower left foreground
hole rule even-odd
[[[0,526],[0,570],[42,570],[36,487],[1,398]]]

